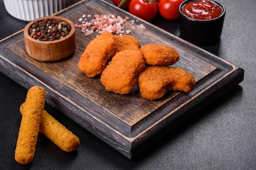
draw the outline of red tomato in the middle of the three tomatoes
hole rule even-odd
[[[129,12],[143,20],[151,21],[157,15],[158,4],[156,0],[132,0]]]

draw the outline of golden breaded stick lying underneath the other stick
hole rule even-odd
[[[23,114],[26,109],[26,103],[24,102],[20,106],[20,113]],[[54,144],[66,152],[72,152],[80,145],[79,138],[45,110],[42,113],[39,130]]]

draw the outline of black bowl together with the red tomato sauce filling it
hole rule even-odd
[[[220,42],[225,14],[216,0],[184,0],[179,7],[180,37],[197,46]]]

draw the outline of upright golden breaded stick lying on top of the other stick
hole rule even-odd
[[[27,109],[22,115],[15,150],[15,160],[19,163],[28,164],[34,157],[45,95],[45,89],[40,86],[31,87],[27,92]]]

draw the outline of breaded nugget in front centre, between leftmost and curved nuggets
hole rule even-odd
[[[136,84],[137,75],[145,68],[140,50],[124,50],[115,54],[101,74],[101,83],[107,91],[128,94]]]

